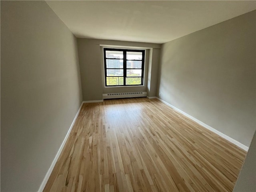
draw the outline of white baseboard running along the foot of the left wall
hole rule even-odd
[[[53,168],[54,168],[54,166],[55,166],[55,164],[56,164],[56,162],[57,162],[57,160],[58,160],[58,158],[59,158],[59,156],[62,152],[62,149],[64,148],[64,145],[66,144],[68,136],[69,136],[69,134],[70,134],[70,132],[71,132],[73,126],[74,126],[74,123],[76,121],[76,118],[78,117],[78,114],[79,114],[82,106],[83,106],[83,102],[81,103],[80,108],[78,109],[78,112],[76,113],[76,116],[75,116],[75,118],[74,118],[74,120],[73,120],[73,122],[72,122],[72,124],[71,124],[71,126],[70,126],[70,128],[69,128],[69,130],[68,130],[68,132],[67,132],[67,134],[66,134],[66,136],[65,136],[65,138],[64,138],[64,140],[63,140],[63,142],[62,142],[62,144],[61,144],[61,146],[60,146],[60,148],[59,148],[59,150],[58,150],[58,152],[55,156],[55,158],[54,158],[54,160],[52,161],[52,164],[51,164],[48,172],[45,175],[44,180],[43,180],[42,184],[40,185],[40,188],[38,189],[38,192],[42,192],[44,190],[44,187],[46,186],[46,183],[47,183],[47,181],[48,181],[48,179],[49,179],[49,177],[52,173],[52,170],[53,170]]]

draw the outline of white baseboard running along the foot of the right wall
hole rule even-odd
[[[192,119],[193,121],[197,122],[198,124],[202,125],[202,126],[205,127],[206,129],[208,129],[208,130],[210,130],[210,131],[216,133],[217,135],[221,136],[222,138],[224,138],[224,139],[226,139],[226,140],[232,142],[233,144],[235,144],[236,146],[242,148],[243,150],[248,151],[248,149],[249,149],[248,146],[245,146],[244,144],[242,144],[242,143],[240,143],[240,142],[234,140],[233,138],[231,138],[231,137],[229,137],[229,136],[223,134],[222,132],[220,132],[220,131],[218,131],[218,130],[212,128],[211,126],[209,126],[209,125],[207,125],[207,124],[201,122],[200,120],[198,120],[198,119],[196,119],[196,118],[190,116],[189,114],[186,114],[186,113],[183,112],[182,110],[180,110],[180,109],[178,109],[178,108],[172,106],[171,104],[165,102],[164,100],[162,100],[162,99],[160,99],[160,98],[158,98],[158,97],[156,97],[156,99],[160,100],[161,102],[163,102],[164,104],[170,106],[171,108],[173,108],[174,110],[180,112],[181,114],[187,116],[188,118],[190,118],[190,119]]]

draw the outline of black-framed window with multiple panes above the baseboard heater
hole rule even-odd
[[[104,48],[106,86],[143,85],[145,50]]]

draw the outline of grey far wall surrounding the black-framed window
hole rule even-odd
[[[81,72],[81,84],[83,92],[83,100],[102,100],[103,93],[119,93],[119,92],[141,92],[147,91],[147,70],[148,70],[148,53],[146,51],[146,69],[145,69],[145,84],[144,86],[133,87],[105,87],[104,85],[104,61],[102,46],[100,45],[113,45],[113,46],[127,46],[127,47],[140,47],[140,48],[154,48],[156,57],[159,54],[160,44],[140,43],[140,42],[125,42],[113,40],[98,40],[77,38],[78,41],[78,55]],[[156,61],[156,59],[155,59]],[[158,62],[154,65],[158,66]],[[157,82],[152,82],[157,84]]]

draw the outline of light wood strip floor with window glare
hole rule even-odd
[[[162,102],[88,103],[44,192],[232,191],[246,152]]]

